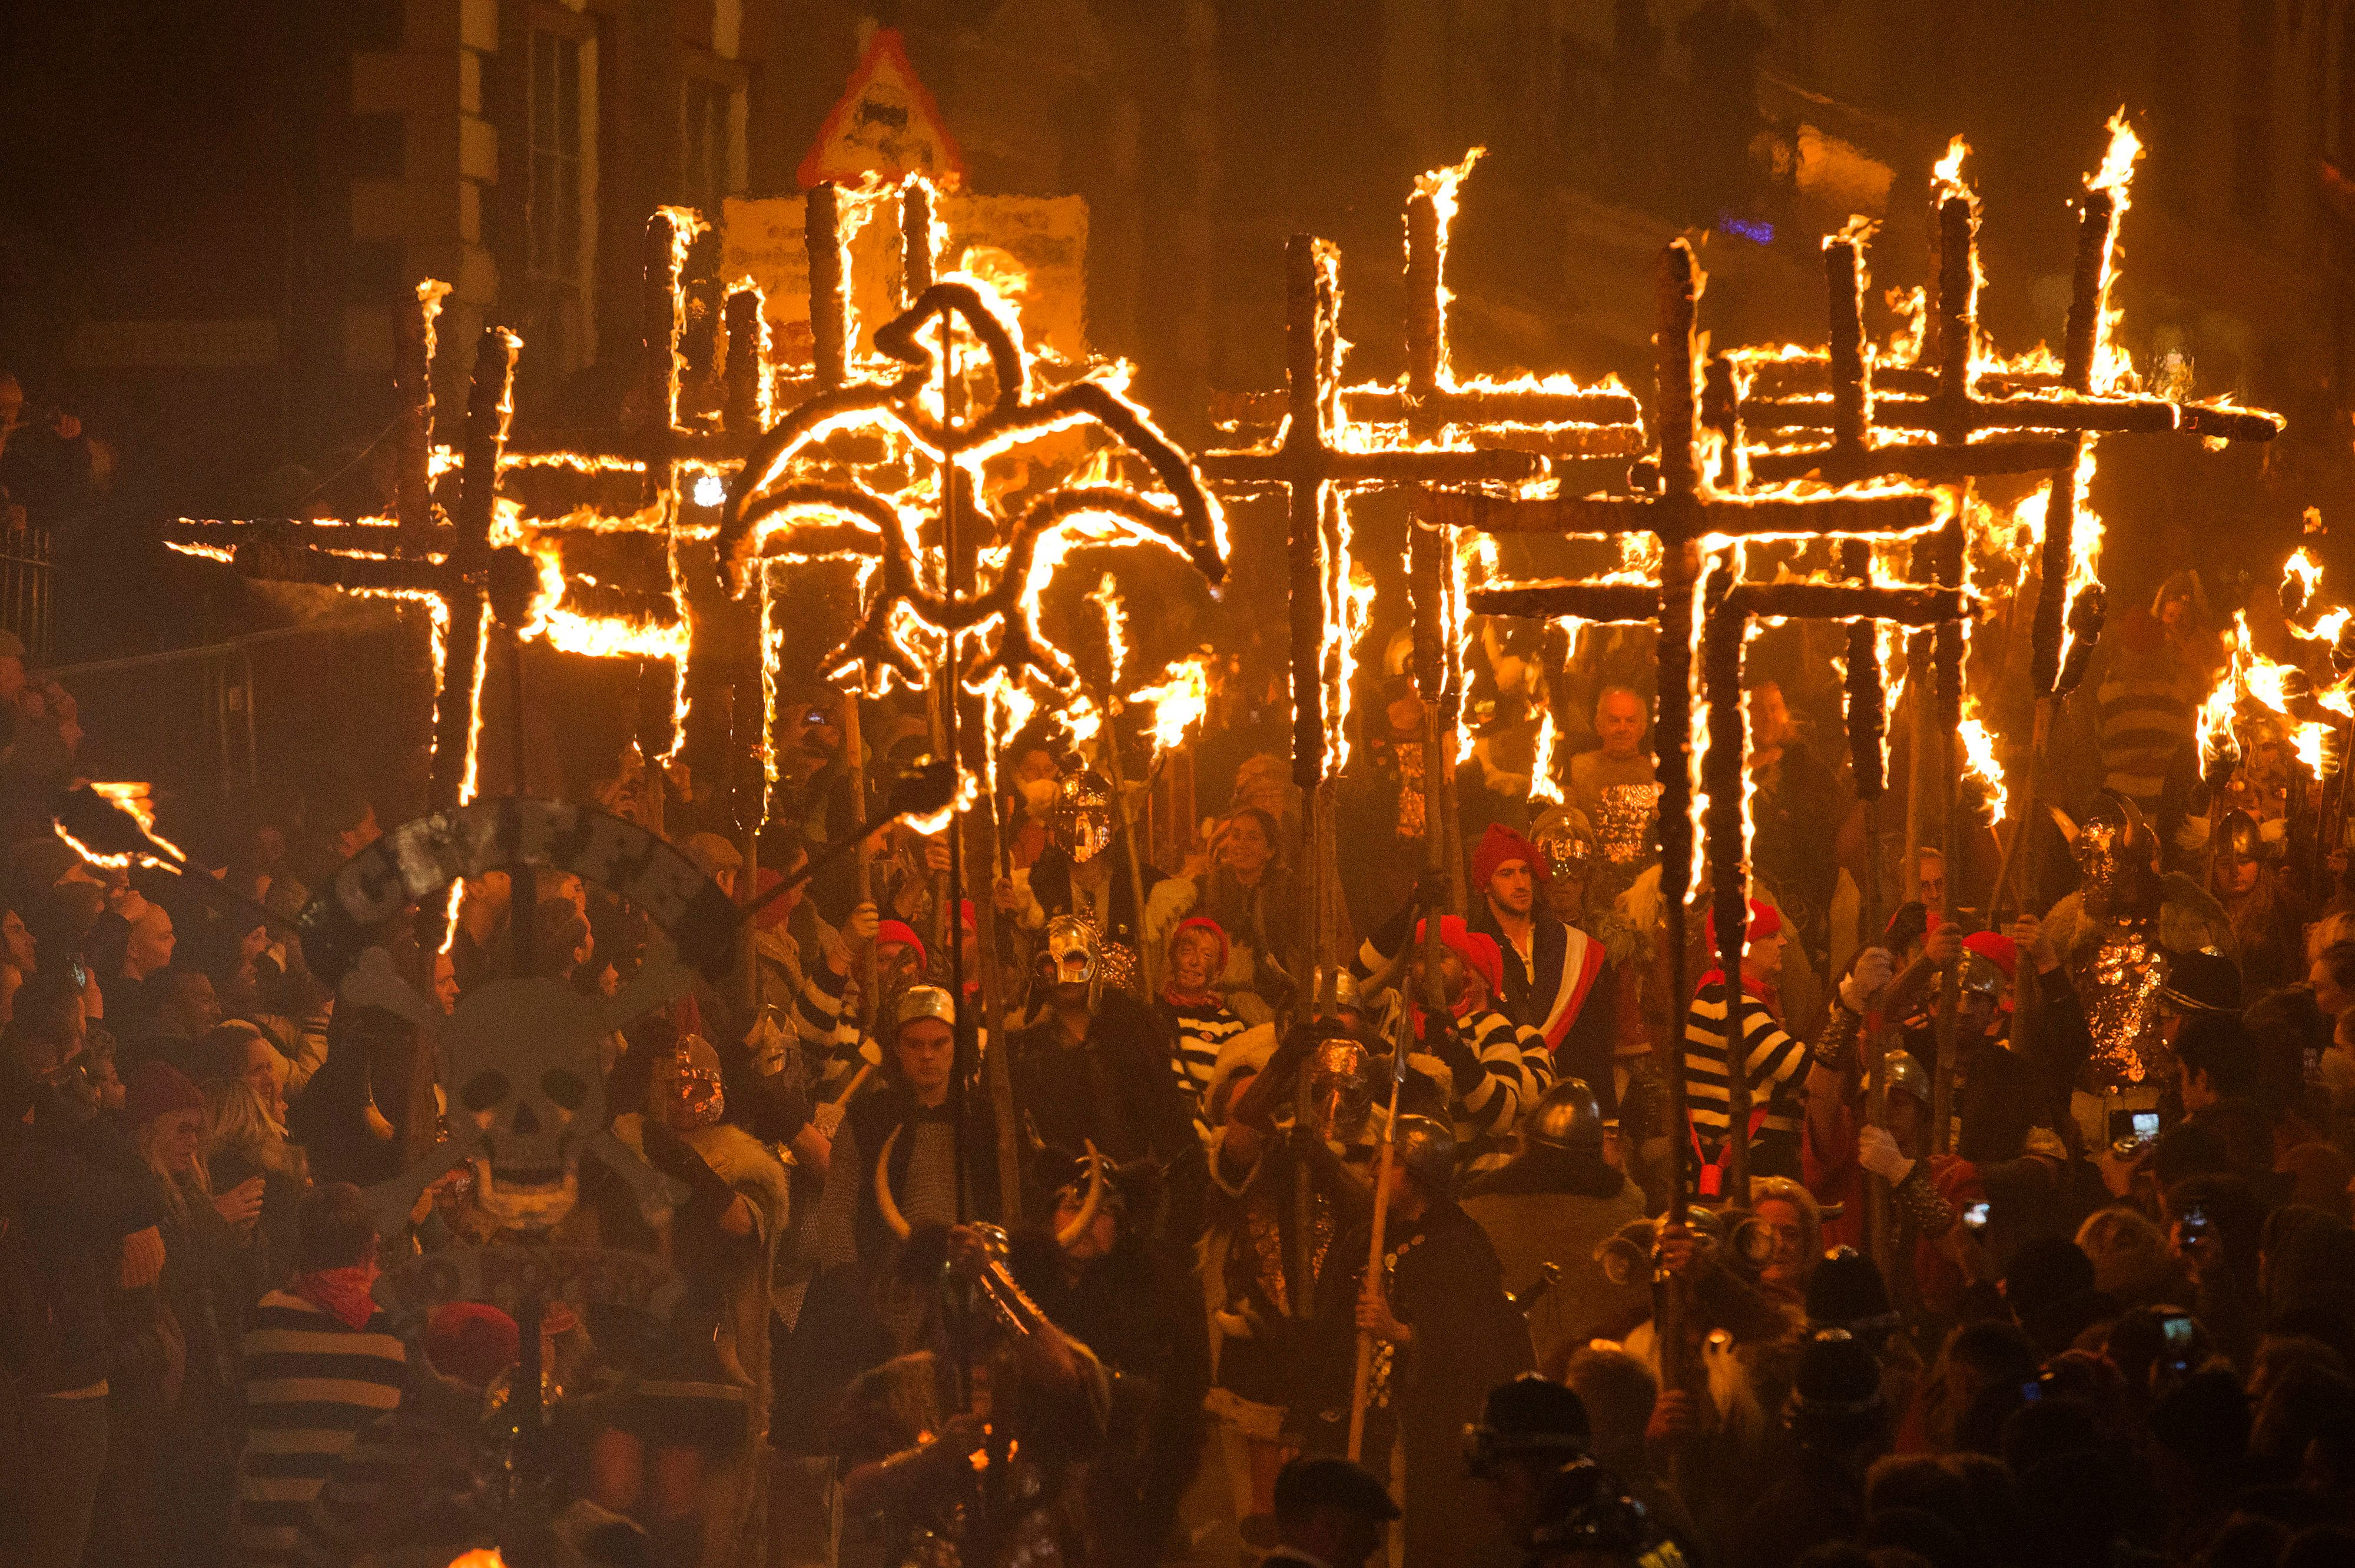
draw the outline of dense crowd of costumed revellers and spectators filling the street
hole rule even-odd
[[[0,1561],[2355,1559],[2355,895],[2282,758],[2178,791],[2122,638],[2117,777],[1985,897],[1762,678],[1729,977],[1641,650],[1484,647],[1453,777],[1373,676],[1326,873],[1281,756],[1206,739],[1163,871],[1039,725],[956,897],[867,826],[907,699],[780,709],[751,876],[586,786],[744,906],[697,979],[553,864],[306,951],[360,786],[97,864],[0,645]]]

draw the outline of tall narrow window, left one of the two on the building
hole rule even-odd
[[[596,358],[596,38],[530,35],[525,273],[535,353],[575,370]]]

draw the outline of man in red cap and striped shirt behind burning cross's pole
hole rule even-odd
[[[1707,951],[1717,951],[1717,916],[1705,928]],[[1740,1012],[1733,1031],[1743,1041],[1743,1081],[1750,1085],[1750,1175],[1799,1177],[1799,1083],[1806,1043],[1783,1029],[1776,977],[1783,972],[1783,911],[1750,899],[1750,944],[1743,951]],[[1726,1074],[1729,986],[1724,970],[1710,970],[1693,991],[1684,1017],[1684,1099],[1691,1137],[1700,1151],[1703,1198],[1724,1194],[1726,1132],[1733,1125]],[[1712,1184],[1717,1177],[1717,1184]]]

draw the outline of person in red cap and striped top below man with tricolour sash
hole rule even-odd
[[[1446,1104],[1448,1123],[1470,1170],[1502,1165],[1521,1111],[1554,1081],[1554,1057],[1545,1036],[1514,1024],[1502,1012],[1505,958],[1495,937],[1470,930],[1458,916],[1439,918],[1439,991],[1448,1019],[1422,1010],[1425,923],[1408,904],[1366,937],[1356,956],[1359,975],[1373,975],[1408,946],[1399,996],[1413,1008],[1408,1069],[1427,1078]],[[1408,925],[1413,921],[1413,925]]]

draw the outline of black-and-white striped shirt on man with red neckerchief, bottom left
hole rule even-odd
[[[360,1429],[400,1406],[407,1351],[391,1318],[365,1328],[271,1290],[245,1330],[238,1544],[250,1568],[294,1561],[304,1516]]]

